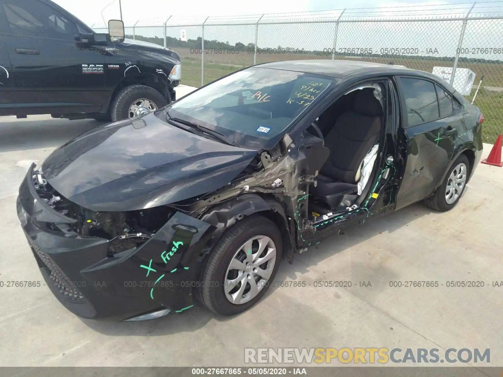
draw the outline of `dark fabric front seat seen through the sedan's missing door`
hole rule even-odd
[[[358,193],[360,166],[379,141],[383,111],[373,89],[359,89],[353,109],[343,113],[325,137],[330,155],[320,169],[310,193],[331,209],[337,209],[345,194]]]

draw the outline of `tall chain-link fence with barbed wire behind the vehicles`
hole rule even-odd
[[[361,60],[433,72],[470,102],[477,92],[473,101],[485,117],[484,142],[503,133],[503,2],[167,16],[125,30],[127,38],[178,52],[182,83],[192,86],[278,60]]]

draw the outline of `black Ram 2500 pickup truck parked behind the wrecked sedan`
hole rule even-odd
[[[50,0],[0,0],[0,116],[118,121],[175,100],[180,55],[94,31]]]

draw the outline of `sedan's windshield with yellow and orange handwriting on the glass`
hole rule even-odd
[[[315,74],[248,68],[176,101],[166,116],[210,128],[239,145],[267,148],[332,82]]]

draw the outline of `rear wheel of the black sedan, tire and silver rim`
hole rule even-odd
[[[470,163],[468,158],[462,154],[452,164],[435,195],[425,199],[425,204],[440,212],[449,211],[459,202],[469,175]]]

